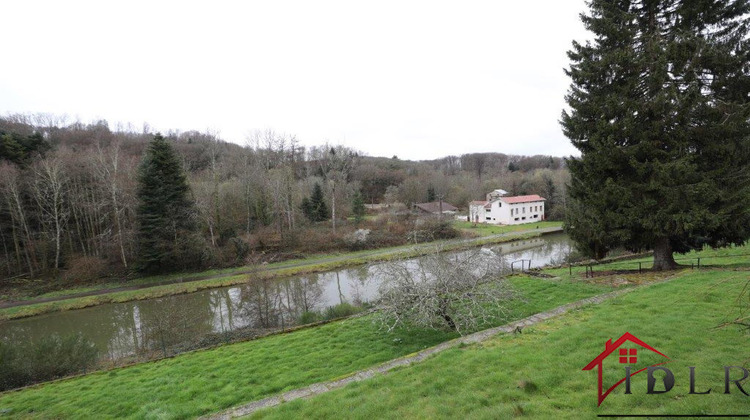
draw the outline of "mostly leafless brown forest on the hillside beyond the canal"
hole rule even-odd
[[[433,229],[419,237],[435,237],[444,229],[417,223],[414,203],[439,197],[465,209],[496,188],[542,195],[548,219],[564,216],[569,175],[559,157],[408,161],[397,150],[372,157],[341,145],[305,147],[273,130],[250,133],[244,145],[212,132],[162,135],[187,182],[190,211],[181,217],[192,229],[175,234],[188,243],[162,273],[401,245],[419,229]],[[70,283],[142,275],[139,247],[151,232],[139,229],[139,182],[155,137],[148,125],[0,117],[0,276]],[[387,206],[364,215],[363,204]]]

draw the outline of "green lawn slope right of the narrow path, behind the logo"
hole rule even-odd
[[[730,395],[723,393],[723,366],[748,367],[750,334],[736,326],[716,328],[737,316],[737,297],[747,282],[747,272],[688,270],[671,282],[646,286],[522,334],[453,348],[421,364],[256,416],[580,419],[597,414],[748,414],[750,397],[734,386]],[[632,379],[632,395],[625,395],[621,386],[597,408],[596,371],[581,369],[604,350],[607,339],[625,332],[671,358],[666,366],[674,372],[675,388],[646,395],[645,373],[639,374]],[[657,362],[639,351],[642,363]],[[612,363],[606,365],[605,388],[624,376],[622,365]],[[712,388],[710,395],[689,395],[689,366],[697,369],[696,390]],[[733,375],[742,377],[741,372]],[[659,378],[657,389],[662,386]],[[750,391],[750,380],[744,384]]]

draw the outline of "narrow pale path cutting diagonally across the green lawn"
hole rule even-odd
[[[660,282],[669,281],[672,278],[673,276],[670,276],[669,278],[662,280]],[[650,283],[650,284],[654,284],[654,283]],[[316,395],[323,394],[325,392],[329,392],[338,388],[342,388],[352,382],[364,381],[366,379],[370,379],[378,375],[385,375],[391,370],[401,367],[401,366],[410,366],[412,364],[420,363],[432,355],[448,350],[459,344],[480,343],[500,333],[513,333],[513,332],[518,332],[518,331],[522,332],[522,329],[529,325],[540,323],[547,319],[565,314],[567,312],[581,308],[586,305],[594,305],[594,304],[602,303],[608,299],[623,295],[625,293],[628,293],[632,290],[636,290],[638,288],[639,287],[617,290],[614,292],[605,293],[603,295],[593,296],[593,297],[582,299],[573,303],[568,303],[566,305],[558,306],[557,308],[550,309],[548,311],[544,311],[541,313],[537,313],[537,314],[531,315],[529,317],[523,318],[515,322],[511,322],[509,324],[506,324],[500,327],[490,328],[487,330],[476,332],[474,334],[459,337],[451,341],[446,341],[444,343],[438,344],[437,346],[422,350],[419,353],[413,354],[411,356],[401,357],[398,359],[394,359],[394,360],[382,363],[378,366],[375,366],[369,369],[364,369],[358,372],[354,372],[342,379],[338,379],[334,381],[318,382],[316,384],[313,384],[304,388],[294,389],[291,391],[287,391],[283,394],[264,398],[262,400],[253,401],[251,403],[244,404],[239,407],[231,408],[229,410],[226,410],[220,413],[211,414],[211,415],[203,417],[203,419],[224,420],[224,419],[231,419],[235,417],[243,417],[243,416],[248,416],[250,414],[253,414],[258,410],[268,408],[268,407],[274,407],[285,402],[297,400],[300,398],[311,398]]]

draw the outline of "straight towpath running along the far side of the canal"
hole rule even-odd
[[[221,279],[225,277],[232,277],[232,276],[246,275],[246,274],[273,273],[274,271],[285,270],[289,268],[313,266],[313,265],[321,264],[321,263],[338,263],[338,262],[346,262],[348,260],[355,260],[355,259],[360,260],[362,258],[377,260],[378,257],[385,257],[385,256],[391,256],[391,255],[395,256],[398,254],[402,254],[405,251],[411,251],[414,249],[417,249],[417,250],[429,249],[429,248],[435,247],[436,245],[450,246],[450,245],[456,245],[456,244],[463,244],[468,247],[475,243],[480,243],[480,242],[488,241],[488,240],[492,241],[495,239],[501,239],[501,238],[508,237],[508,236],[522,235],[524,233],[538,232],[541,234],[548,234],[548,233],[562,232],[562,230],[563,229],[561,227],[529,229],[529,230],[518,231],[518,232],[507,232],[507,233],[500,233],[497,235],[482,236],[479,238],[472,238],[472,239],[453,239],[453,240],[441,241],[439,243],[428,242],[425,244],[415,245],[413,247],[408,247],[408,248],[402,247],[402,248],[398,248],[395,250],[394,249],[381,249],[381,250],[376,249],[376,250],[372,250],[372,251],[365,252],[365,253],[359,253],[357,255],[342,255],[340,257],[328,257],[328,258],[319,258],[319,259],[313,258],[310,260],[300,261],[296,263],[288,263],[288,264],[282,263],[273,267],[254,266],[254,267],[249,267],[245,270],[232,271],[230,273],[213,274],[213,275],[206,275],[206,276],[182,277],[182,278],[176,278],[176,279],[154,282],[154,283],[149,283],[149,284],[112,287],[112,288],[106,288],[106,289],[100,289],[100,290],[91,290],[88,292],[72,293],[69,295],[53,296],[53,297],[48,297],[48,298],[30,299],[30,300],[22,300],[22,301],[15,301],[15,302],[14,301],[0,302],[0,309],[14,308],[18,306],[36,305],[39,303],[47,303],[47,302],[59,302],[62,300],[75,299],[75,298],[81,298],[81,297],[87,297],[87,296],[106,295],[108,293],[148,289],[151,287],[166,286],[166,285],[176,284],[176,283],[187,283],[187,282],[202,281],[202,280],[215,280],[215,279]]]

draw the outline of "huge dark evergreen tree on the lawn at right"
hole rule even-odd
[[[567,229],[596,257],[673,252],[750,236],[748,0],[591,0],[563,112]]]

